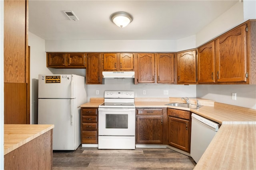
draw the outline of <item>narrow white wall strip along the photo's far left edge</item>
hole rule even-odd
[[[0,170],[4,169],[4,1],[0,0]]]

